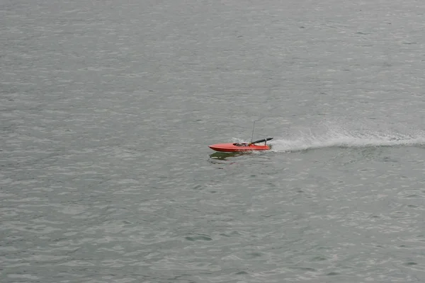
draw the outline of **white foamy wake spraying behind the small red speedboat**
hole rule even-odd
[[[425,133],[329,131],[325,134],[301,133],[290,139],[275,139],[272,151],[302,151],[327,147],[419,146],[425,145]]]

